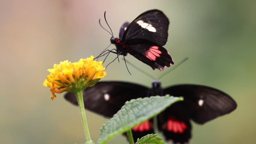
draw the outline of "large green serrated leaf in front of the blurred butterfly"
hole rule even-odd
[[[100,129],[99,144],[104,144],[114,136],[122,134],[134,126],[158,115],[182,97],[151,96],[125,102],[124,106]]]

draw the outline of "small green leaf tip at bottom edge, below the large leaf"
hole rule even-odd
[[[141,139],[138,139],[135,144],[164,144],[162,138],[158,137],[157,134],[148,134]]]

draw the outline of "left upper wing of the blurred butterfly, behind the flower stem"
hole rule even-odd
[[[116,81],[98,82],[84,90],[84,107],[103,116],[113,117],[127,100],[146,97],[147,91],[147,87],[138,84]],[[74,93],[68,92],[64,97],[78,105]]]

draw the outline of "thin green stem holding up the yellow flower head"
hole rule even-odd
[[[87,121],[86,121],[86,116],[85,116],[85,109],[84,109],[84,98],[83,98],[83,91],[77,91],[75,92],[76,94],[76,99],[78,101],[78,105],[80,108],[80,113],[81,113],[81,117],[82,117],[82,122],[83,122],[83,126],[84,126],[84,133],[85,133],[85,138],[86,138],[86,144],[88,143],[93,143],[91,140],[91,136],[89,133],[89,129],[88,129],[88,125],[87,125]]]

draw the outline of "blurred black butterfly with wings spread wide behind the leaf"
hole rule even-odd
[[[181,84],[161,88],[160,81],[154,81],[152,88],[127,82],[98,82],[87,87],[84,94],[84,107],[106,117],[112,117],[125,101],[152,95],[182,96],[183,101],[174,103],[157,116],[158,130],[166,140],[174,143],[186,143],[191,138],[190,119],[204,124],[218,116],[236,109],[236,102],[220,90],[195,84]],[[68,92],[65,99],[78,105],[74,93]],[[141,138],[154,133],[153,121],[146,121],[132,129],[133,138]]]

